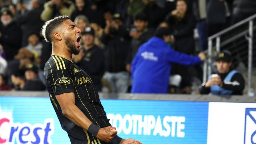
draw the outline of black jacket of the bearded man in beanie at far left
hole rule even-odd
[[[12,60],[21,47],[22,31],[16,21],[11,22],[6,27],[0,23],[0,44],[2,44],[7,60]]]

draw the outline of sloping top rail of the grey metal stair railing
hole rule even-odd
[[[214,35],[211,35],[210,37],[208,37],[208,40],[214,39],[214,38],[216,38],[216,37],[218,37],[218,36],[228,32],[230,30],[233,30],[234,28],[236,28],[236,27],[238,27],[238,26],[240,26],[242,24],[245,24],[245,23],[249,22],[250,20],[252,20],[254,18],[256,18],[256,14],[254,14],[254,15],[252,15],[252,16],[250,16],[250,17],[248,17],[248,18],[246,18],[246,19],[244,19],[244,20],[242,20],[242,21],[240,21],[240,22],[238,22],[238,23],[236,23],[236,24],[234,24],[234,25],[232,25],[232,26],[230,26],[230,27],[228,27],[228,28],[218,32],[218,33],[215,33]]]

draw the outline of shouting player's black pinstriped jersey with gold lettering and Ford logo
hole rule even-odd
[[[61,111],[56,95],[73,92],[75,94],[75,105],[99,127],[111,126],[109,119],[101,105],[98,92],[95,90],[92,79],[70,60],[51,55],[45,64],[46,88],[49,92],[51,103],[58,116],[62,128],[75,138],[87,140],[88,143],[101,143],[68,118]]]

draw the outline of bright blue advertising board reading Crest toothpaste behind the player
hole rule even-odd
[[[101,100],[122,138],[205,144],[209,102]],[[68,144],[49,98],[0,96],[0,144]]]

